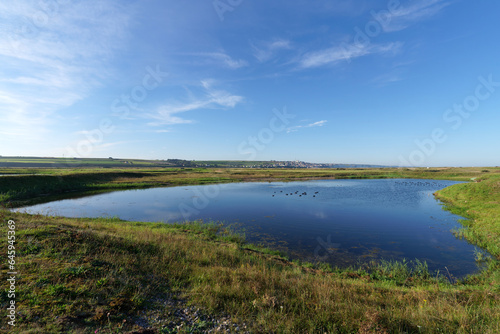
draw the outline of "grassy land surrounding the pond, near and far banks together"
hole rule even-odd
[[[400,263],[329,270],[291,263],[215,224],[66,219],[3,210],[1,249],[7,249],[7,221],[16,222],[17,332],[132,333],[148,325],[152,333],[202,333],[220,328],[216,321],[223,317],[230,319],[232,331],[255,333],[500,332],[498,169],[40,172],[48,176],[0,178],[4,203],[54,194],[61,183],[53,182],[61,178],[74,182],[65,191],[75,185],[88,191],[266,179],[476,178],[438,196],[469,219],[456,233],[497,260],[490,260],[483,273],[451,284],[429,274],[424,264],[414,270]],[[22,182],[13,182],[16,178]],[[6,260],[1,266],[6,272]],[[6,319],[6,292],[0,300],[0,316]],[[201,310],[183,322],[179,312],[188,317],[190,305]]]

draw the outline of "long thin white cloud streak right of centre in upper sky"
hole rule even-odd
[[[342,44],[332,48],[306,53],[299,59],[300,68],[313,68],[336,64],[340,61],[351,61],[354,58],[369,54],[396,53],[403,44]]]

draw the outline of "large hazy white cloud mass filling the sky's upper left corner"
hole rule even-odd
[[[0,132],[40,137],[54,113],[99,86],[129,15],[98,0],[0,3]]]

